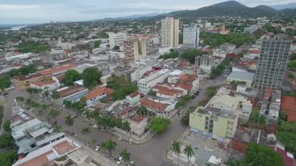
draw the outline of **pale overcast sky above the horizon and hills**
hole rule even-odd
[[[225,0],[0,0],[0,24],[80,21],[198,9]],[[296,0],[238,0],[254,7]]]

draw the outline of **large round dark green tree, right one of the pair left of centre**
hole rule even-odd
[[[87,67],[83,70],[81,78],[83,80],[83,84],[88,89],[93,89],[100,82],[100,78],[102,76],[102,72],[99,71],[95,67]]]

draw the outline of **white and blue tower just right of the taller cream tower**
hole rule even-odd
[[[197,25],[189,25],[183,29],[183,46],[190,48],[199,47],[200,28]]]

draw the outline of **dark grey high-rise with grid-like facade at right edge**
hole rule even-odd
[[[292,41],[274,36],[262,39],[254,88],[280,88],[289,60]]]

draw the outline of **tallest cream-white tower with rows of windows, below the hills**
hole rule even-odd
[[[166,17],[161,20],[161,44],[163,47],[176,47],[179,44],[179,19]]]

